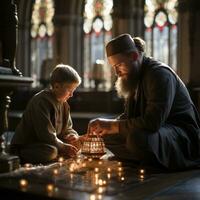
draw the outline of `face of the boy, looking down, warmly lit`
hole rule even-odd
[[[57,100],[65,102],[73,96],[73,93],[77,87],[77,83],[55,83],[53,90]]]

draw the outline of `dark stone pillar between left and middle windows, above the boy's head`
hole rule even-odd
[[[69,64],[81,73],[82,18],[62,14],[54,18],[56,63]]]

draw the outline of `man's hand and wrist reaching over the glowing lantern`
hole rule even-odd
[[[117,120],[97,118],[88,124],[88,134],[114,134],[119,133],[119,123]]]

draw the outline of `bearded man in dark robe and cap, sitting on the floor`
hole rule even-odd
[[[144,47],[141,38],[129,34],[106,45],[125,109],[117,119],[92,120],[89,133],[102,135],[121,159],[172,170],[194,167],[200,158],[197,110],[178,75],[166,64],[146,57]]]

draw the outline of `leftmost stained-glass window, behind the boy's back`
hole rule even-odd
[[[53,0],[35,0],[31,18],[31,75],[34,78],[34,85],[38,86],[43,73],[42,69],[53,58],[53,33],[54,26]]]

